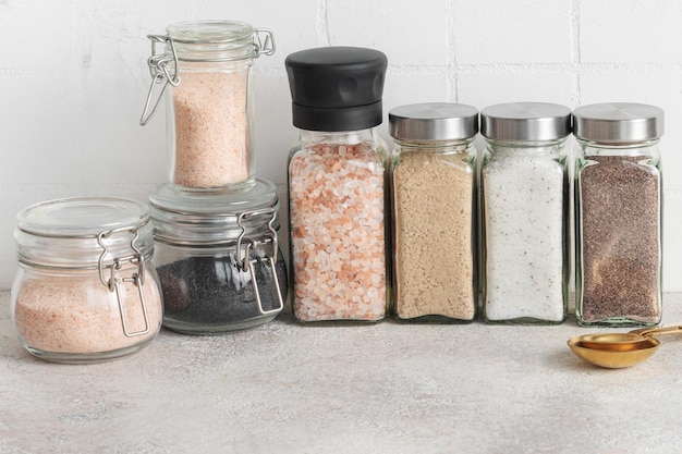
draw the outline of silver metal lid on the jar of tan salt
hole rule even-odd
[[[478,133],[478,110],[466,105],[425,102],[389,114],[390,134],[401,140],[458,140]]]

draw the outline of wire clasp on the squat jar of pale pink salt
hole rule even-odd
[[[106,266],[105,259],[109,254],[109,247],[106,244],[106,240],[110,238],[117,233],[129,233],[133,235],[133,240],[131,241],[131,248],[133,249],[133,254],[123,257],[114,257],[111,265]],[[126,338],[144,335],[147,334],[150,330],[149,315],[147,314],[147,303],[145,302],[145,294],[143,292],[143,285],[145,283],[145,258],[143,257],[142,251],[135,245],[135,242],[138,237],[139,234],[137,231],[137,226],[107,230],[100,232],[99,235],[97,235],[97,243],[103,249],[103,251],[99,256],[99,280],[107,289],[109,289],[109,292],[115,292],[117,303],[119,304],[119,312],[121,314],[123,333]],[[123,268],[123,266],[127,263],[136,265],[137,272],[134,272],[131,277],[119,277],[119,271]],[[106,275],[107,269],[110,269],[109,277]],[[130,331],[127,328],[125,307],[123,306],[123,299],[121,298],[121,284],[129,282],[133,283],[133,285],[137,287],[142,312],[145,319],[145,327],[143,330],[139,331]]]

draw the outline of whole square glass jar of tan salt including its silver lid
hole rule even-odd
[[[391,110],[389,121],[395,315],[473,321],[478,110],[409,105]]]

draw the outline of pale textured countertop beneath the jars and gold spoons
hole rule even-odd
[[[682,321],[667,294],[665,323]],[[303,327],[162,330],[145,349],[73,366],[17,343],[0,293],[0,453],[682,452],[682,336],[600,369],[580,328]],[[623,330],[620,330],[623,331]]]

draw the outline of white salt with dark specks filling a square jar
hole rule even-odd
[[[510,152],[483,170],[489,321],[561,322],[564,309],[563,164]]]

